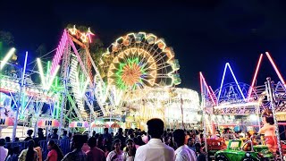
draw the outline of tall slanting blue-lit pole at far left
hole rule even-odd
[[[26,73],[26,66],[27,66],[27,58],[28,58],[28,52],[26,52],[24,68],[23,68],[23,71],[21,72],[21,87],[20,87],[20,93],[19,93],[19,98],[18,98],[18,103],[17,103],[16,116],[15,116],[15,120],[14,120],[12,140],[15,140],[15,138],[16,138],[21,95],[22,95],[22,90],[25,87],[25,84],[24,84],[25,81],[24,80],[25,80],[25,73]],[[23,106],[23,105],[21,105],[21,106]]]

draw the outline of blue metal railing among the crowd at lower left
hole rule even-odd
[[[47,142],[49,140],[40,140],[38,141],[38,145],[40,146],[42,150],[42,157],[43,160],[46,159],[48,150],[47,150]],[[63,156],[66,155],[68,152],[70,152],[70,142],[71,140],[66,139],[66,140],[54,140],[55,143],[59,146],[59,148],[62,149],[63,151]],[[14,148],[14,147],[19,147],[20,150],[23,150],[25,148],[28,148],[28,141],[20,141],[20,142],[8,142],[6,143],[6,148]]]

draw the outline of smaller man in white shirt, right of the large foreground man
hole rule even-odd
[[[185,144],[185,131],[178,129],[173,131],[172,140],[177,147],[175,161],[197,161],[196,153]]]

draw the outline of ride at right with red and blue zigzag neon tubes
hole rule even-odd
[[[207,136],[215,136],[215,131],[220,126],[256,126],[259,130],[262,127],[262,124],[260,124],[262,111],[270,109],[273,113],[274,125],[276,126],[275,133],[279,152],[280,155],[283,154],[279,125],[285,125],[282,121],[286,121],[286,84],[271,55],[268,52],[265,55],[280,80],[277,83],[274,83],[271,78],[267,78],[264,85],[255,86],[263,54],[259,57],[250,85],[237,80],[229,63],[225,64],[221,86],[216,90],[208,86],[202,72],[199,73],[205,138]],[[227,70],[231,72],[234,80],[231,83],[224,83]]]

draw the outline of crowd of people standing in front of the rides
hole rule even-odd
[[[0,140],[0,161],[38,161],[42,160],[38,141],[46,137],[38,131],[38,137],[32,138],[33,131],[27,131],[28,148],[20,151],[19,147],[5,147],[5,140]],[[55,130],[50,139],[59,137]],[[147,122],[147,132],[140,129],[120,128],[116,134],[105,128],[103,134],[93,132],[92,136],[74,133],[68,136],[63,131],[62,139],[71,139],[71,152],[63,156],[62,145],[55,140],[47,142],[47,161],[205,161],[204,141],[199,131],[169,130],[164,131],[164,122],[154,118]],[[63,148],[63,147],[62,147]]]

